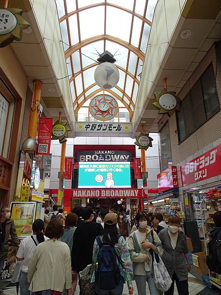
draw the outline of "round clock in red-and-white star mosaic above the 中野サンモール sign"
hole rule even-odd
[[[118,103],[113,96],[100,94],[91,99],[89,112],[97,120],[108,121],[118,114]]]

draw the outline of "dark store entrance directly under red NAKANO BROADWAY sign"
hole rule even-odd
[[[115,213],[126,211],[126,199],[105,198],[105,199],[87,199],[87,206],[91,206],[94,211],[101,211],[102,209],[113,209]]]

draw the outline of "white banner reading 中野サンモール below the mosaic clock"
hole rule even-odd
[[[76,133],[132,133],[132,123],[120,122],[76,122]]]

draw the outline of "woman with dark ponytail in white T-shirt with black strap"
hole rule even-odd
[[[23,261],[22,263],[22,271],[20,277],[20,294],[21,295],[29,295],[30,291],[28,291],[28,264],[31,260],[33,252],[36,246],[39,243],[44,242],[47,237],[43,235],[43,231],[45,229],[44,221],[41,219],[36,219],[32,224],[32,232],[33,236],[28,236],[21,241],[19,246],[16,259],[17,261]]]

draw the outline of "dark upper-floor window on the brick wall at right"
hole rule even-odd
[[[185,140],[208,119],[220,111],[212,63],[184,97],[177,112],[179,142]]]

